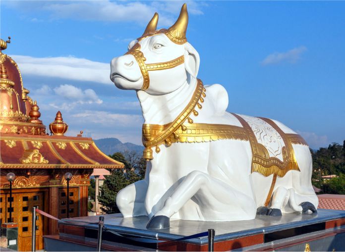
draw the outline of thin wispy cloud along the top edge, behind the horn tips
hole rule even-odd
[[[155,12],[160,14],[159,25],[172,25],[178,16],[183,1],[4,1],[8,7],[30,13],[48,13],[50,19],[77,19],[103,22],[136,22],[141,26],[152,18]],[[207,4],[188,1],[190,14],[203,14],[201,7]],[[33,18],[35,19],[35,18]],[[37,18],[36,18],[37,19]]]

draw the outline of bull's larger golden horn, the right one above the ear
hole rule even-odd
[[[176,44],[184,44],[187,42],[186,31],[188,26],[187,4],[183,4],[180,15],[172,27],[168,29],[166,35]]]

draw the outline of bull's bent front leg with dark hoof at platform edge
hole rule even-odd
[[[205,220],[236,220],[239,212],[242,218],[243,216],[246,219],[255,218],[256,206],[252,198],[222,181],[212,178],[209,174],[192,171],[165,201],[163,208],[151,218],[147,228],[167,227],[168,224],[165,223],[168,223],[169,218],[196,195],[204,202],[204,208],[202,205],[199,207],[200,214],[203,214]],[[210,205],[218,205],[218,216],[214,212],[209,214]]]

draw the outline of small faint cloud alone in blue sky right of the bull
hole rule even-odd
[[[297,47],[286,52],[274,52],[264,58],[261,61],[262,65],[277,64],[281,62],[296,63],[300,58],[301,54],[306,51],[307,48],[304,46]]]

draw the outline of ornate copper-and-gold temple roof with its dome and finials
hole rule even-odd
[[[64,136],[68,125],[60,111],[49,125],[52,135],[48,134],[17,63],[2,52],[8,39],[0,39],[0,168],[123,168],[91,138],[82,137],[82,131],[77,137]]]

